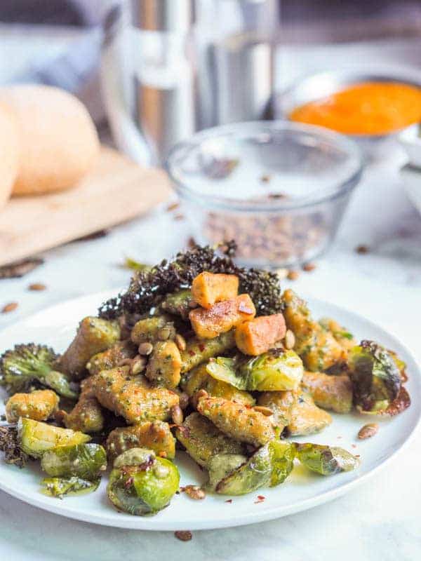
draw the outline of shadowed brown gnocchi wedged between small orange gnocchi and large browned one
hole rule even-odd
[[[82,433],[99,433],[105,426],[102,407],[95,398],[92,385],[93,377],[81,382],[81,395],[72,411],[64,414],[63,421],[67,428]]]

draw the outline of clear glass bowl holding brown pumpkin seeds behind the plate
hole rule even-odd
[[[166,169],[199,243],[234,239],[248,266],[295,266],[333,241],[362,171],[359,148],[330,130],[258,121],[203,130]]]

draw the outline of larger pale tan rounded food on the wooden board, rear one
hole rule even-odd
[[[50,86],[0,89],[0,103],[15,113],[20,161],[13,195],[34,195],[75,187],[98,156],[99,142],[86,107]]]

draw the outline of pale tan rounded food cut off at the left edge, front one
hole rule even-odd
[[[18,165],[18,123],[7,107],[0,106],[0,209],[11,196]]]

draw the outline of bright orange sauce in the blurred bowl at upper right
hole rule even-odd
[[[421,88],[366,82],[297,107],[292,121],[350,135],[385,135],[421,121]]]

